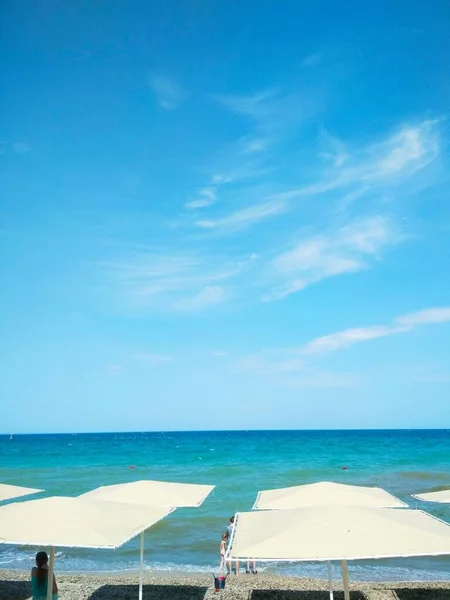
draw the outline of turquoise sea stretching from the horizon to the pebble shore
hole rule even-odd
[[[450,487],[450,430],[0,436],[4,483],[72,496],[138,479],[216,485],[200,508],[178,509],[146,534],[147,568],[210,572],[217,568],[220,535],[229,517],[250,510],[262,489],[316,481],[381,486],[450,522],[450,505],[411,498]],[[0,545],[0,568],[29,569],[34,551]],[[63,549],[57,552],[57,570],[135,569],[138,557],[136,541],[114,552]],[[326,566],[319,563],[260,568],[326,576]],[[450,558],[351,563],[350,574],[368,580],[450,579]]]

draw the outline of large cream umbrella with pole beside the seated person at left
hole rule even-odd
[[[173,510],[58,496],[8,504],[0,507],[0,543],[50,546],[50,600],[55,547],[114,550]]]

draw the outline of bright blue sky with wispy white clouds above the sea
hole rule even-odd
[[[1,21],[1,431],[450,427],[448,3]]]

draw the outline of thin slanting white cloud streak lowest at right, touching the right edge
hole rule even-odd
[[[390,325],[376,325],[346,329],[309,342],[301,349],[302,354],[326,354],[342,348],[349,348],[359,342],[374,340],[389,335],[406,333],[420,325],[450,322],[450,307],[429,308],[394,319]]]

